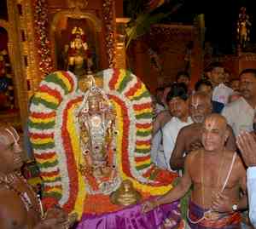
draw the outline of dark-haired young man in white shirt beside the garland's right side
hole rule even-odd
[[[172,119],[163,128],[164,157],[162,157],[161,167],[172,170],[170,158],[175,146],[177,134],[184,126],[192,122],[189,117],[189,104],[187,90],[182,83],[172,86],[171,92],[167,95],[167,103],[172,114]]]

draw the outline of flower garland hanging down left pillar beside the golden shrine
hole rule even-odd
[[[45,0],[37,0],[34,5],[35,36],[38,45],[39,71],[42,76],[53,71],[53,62],[49,52],[49,38],[47,37],[48,12]]]

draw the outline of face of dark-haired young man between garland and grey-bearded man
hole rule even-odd
[[[168,106],[174,117],[182,119],[188,115],[188,102],[179,97],[174,97],[170,100]]]

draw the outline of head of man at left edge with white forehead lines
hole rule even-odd
[[[5,128],[0,130],[0,161],[1,170],[8,174],[20,169],[22,166],[20,136],[13,128]]]

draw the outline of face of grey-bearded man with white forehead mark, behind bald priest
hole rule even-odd
[[[211,100],[205,95],[192,95],[189,100],[189,112],[195,123],[203,123],[207,115],[211,113]]]

